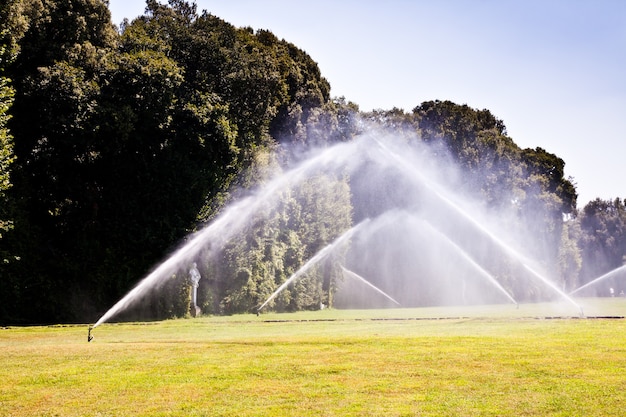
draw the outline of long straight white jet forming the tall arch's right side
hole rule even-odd
[[[464,219],[469,221],[472,225],[474,225],[478,230],[483,232],[486,236],[493,240],[500,248],[502,248],[505,252],[511,255],[513,258],[517,259],[527,270],[529,270],[532,275],[542,281],[545,285],[554,290],[557,294],[563,297],[564,300],[572,304],[576,309],[580,311],[580,315],[584,316],[583,308],[576,303],[571,297],[561,291],[552,281],[545,278],[543,275],[537,273],[532,268],[527,265],[528,260],[525,259],[522,254],[514,250],[508,244],[506,244],[503,240],[501,240],[498,236],[493,234],[489,229],[487,229],[484,225],[474,219],[469,213],[463,210],[460,206],[458,206],[454,201],[448,198],[442,190],[439,190],[438,187],[435,187],[434,184],[431,183],[427,178],[425,178],[419,170],[417,170],[413,165],[409,164],[405,158],[401,157],[397,153],[393,152],[383,143],[374,138],[374,141],[378,144],[379,148],[391,159],[393,159],[396,163],[398,163],[403,169],[408,170],[408,172],[412,173],[415,178],[419,180],[420,185],[428,188],[433,195],[437,196],[442,202],[451,207],[457,214],[462,216]]]

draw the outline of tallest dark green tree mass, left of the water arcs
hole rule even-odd
[[[21,214],[5,242],[27,321],[96,318],[274,146],[280,108],[328,100],[304,52],[193,3],[148,1],[121,34],[100,0],[11,4]]]

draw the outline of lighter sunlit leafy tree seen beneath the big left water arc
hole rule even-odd
[[[212,312],[251,312],[325,246],[351,227],[346,178],[323,174],[293,184],[229,242],[207,266],[206,298]],[[342,250],[284,289],[268,309],[295,311],[332,305]]]

